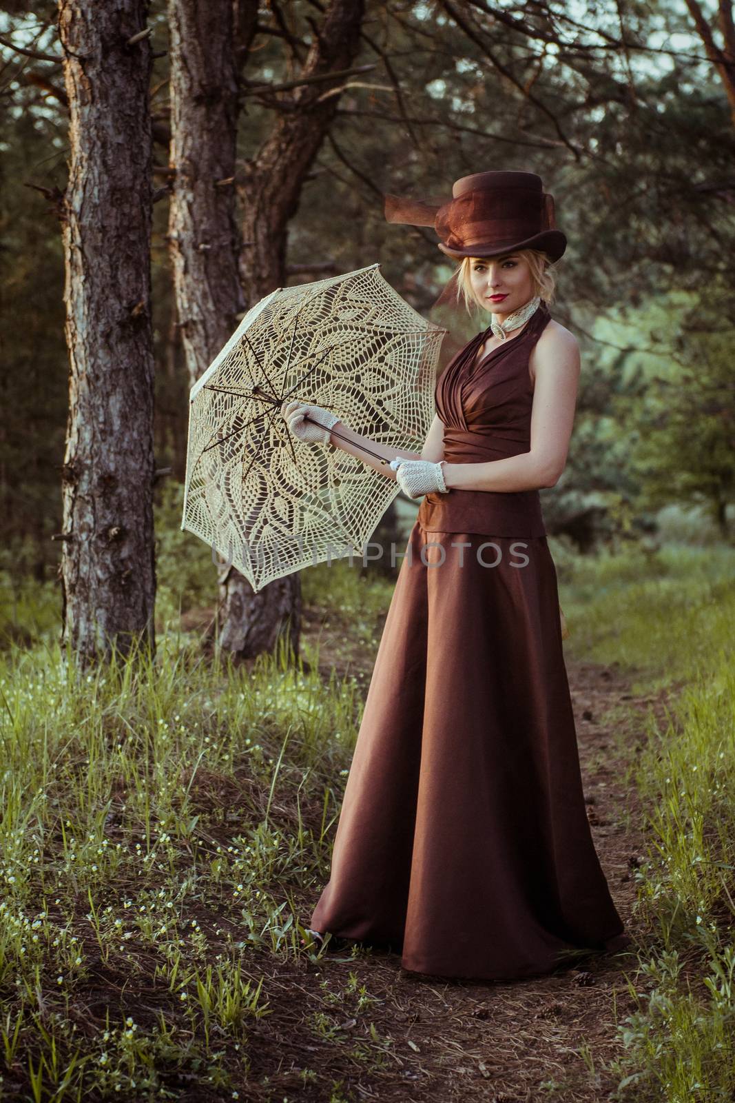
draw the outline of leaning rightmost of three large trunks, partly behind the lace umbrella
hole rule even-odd
[[[364,0],[332,0],[304,61],[302,77],[349,68],[357,55]],[[335,77],[334,87],[339,87]],[[339,95],[325,94],[331,82],[304,85],[285,96],[273,129],[245,165],[239,183],[242,211],[240,279],[248,306],[285,283],[285,244],[289,221],[296,213],[306,173],[334,119]],[[228,651],[251,656],[271,650],[288,636],[299,650],[301,579],[298,572],[275,579],[256,593],[234,568],[220,577],[220,643]]]

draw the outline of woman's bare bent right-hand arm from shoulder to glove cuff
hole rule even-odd
[[[581,371],[576,339],[563,325],[547,326],[537,342],[533,363],[530,451],[486,463],[445,463],[447,491],[538,490],[559,480],[574,424]]]

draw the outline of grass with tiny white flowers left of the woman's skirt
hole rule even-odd
[[[58,645],[6,652],[6,1091],[179,1097],[188,1074],[242,1092],[266,974],[310,953],[361,714],[354,679],[309,658],[236,668],[163,640],[80,676]]]

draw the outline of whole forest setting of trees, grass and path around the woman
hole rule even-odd
[[[2,1097],[733,1099],[732,2],[0,0],[0,128]],[[305,930],[398,567],[253,595],[180,528],[238,318],[376,261],[429,311],[452,268],[382,196],[486,169],[569,238],[541,493],[635,940],[499,988]]]

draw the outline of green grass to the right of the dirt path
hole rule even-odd
[[[732,548],[668,546],[582,564],[562,588],[572,653],[631,664],[640,690],[674,689],[630,768],[648,852],[620,1100],[735,1096],[734,567]]]

